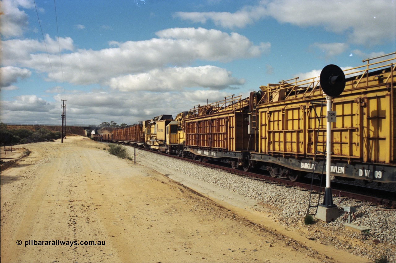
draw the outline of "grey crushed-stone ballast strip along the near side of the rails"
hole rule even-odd
[[[129,149],[133,151],[133,148]],[[370,260],[386,255],[389,262],[396,262],[396,211],[389,210],[385,206],[377,206],[345,197],[333,197],[334,204],[339,208],[340,217],[330,223],[322,223],[316,219],[316,223],[313,225],[305,225],[304,217],[307,212],[309,191],[302,191],[298,187],[285,187],[264,180],[252,180],[149,151],[137,149],[136,153],[139,154],[139,159],[149,159],[191,178],[234,191],[256,200],[259,204],[271,207],[271,211],[274,213],[273,221],[278,221],[286,227],[308,230],[308,235],[310,235],[308,238],[311,240],[331,244]],[[395,191],[396,184],[388,184],[386,189]],[[348,219],[343,220],[344,206],[356,207],[357,220],[353,220],[352,223],[367,226],[371,230],[360,233],[346,229],[345,223]],[[311,212],[315,212],[314,208]]]

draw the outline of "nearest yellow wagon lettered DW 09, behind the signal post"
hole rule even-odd
[[[331,122],[331,174],[335,176],[380,182],[396,179],[396,68],[394,53],[390,55],[344,70],[345,89],[332,99],[337,115],[336,122]],[[286,174],[295,180],[299,172],[322,171],[320,161],[313,162],[315,149],[326,151],[326,102],[318,82],[319,78],[296,78],[262,86],[261,96],[251,96],[256,102],[252,118],[257,119],[251,162],[267,163],[272,176]]]

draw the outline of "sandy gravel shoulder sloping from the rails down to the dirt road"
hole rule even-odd
[[[133,148],[129,148],[132,154]],[[316,220],[307,226],[308,191],[260,182],[228,172],[213,170],[192,163],[137,149],[137,163],[162,171],[181,184],[202,193],[253,223],[291,238],[309,249],[326,254],[340,262],[371,262],[386,255],[396,262],[396,211],[369,202],[333,197],[340,217],[334,222]],[[396,191],[395,184],[386,185]],[[344,206],[355,206],[356,221],[370,227],[366,233],[345,227]],[[358,256],[358,257],[355,257]]]

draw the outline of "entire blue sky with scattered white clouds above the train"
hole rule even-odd
[[[60,124],[61,99],[69,124],[175,117],[207,99],[396,51],[394,0],[2,0],[0,8],[3,123]]]

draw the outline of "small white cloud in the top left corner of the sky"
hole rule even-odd
[[[28,16],[22,8],[33,8],[33,1],[30,0],[3,0],[1,8],[0,31],[6,38],[22,36],[28,25]]]

